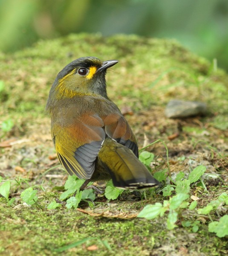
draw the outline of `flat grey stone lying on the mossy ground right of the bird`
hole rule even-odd
[[[205,115],[207,105],[202,102],[170,100],[165,108],[165,115],[169,118],[185,118],[188,116]]]

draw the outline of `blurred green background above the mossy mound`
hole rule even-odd
[[[228,70],[228,0],[0,0],[0,50],[69,33],[175,38]]]

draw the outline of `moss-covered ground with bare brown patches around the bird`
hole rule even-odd
[[[11,180],[10,197],[16,197],[11,207],[0,198],[0,255],[225,255],[225,238],[208,232],[209,219],[196,212],[183,211],[178,227],[167,230],[165,217],[123,220],[65,207],[46,209],[59,198],[62,191],[56,187],[63,186],[67,178],[55,157],[46,100],[57,73],[83,56],[119,60],[107,73],[108,95],[125,113],[140,148],[162,139],[172,175],[187,174],[202,164],[207,167],[206,175],[219,177],[205,175],[207,191],[196,186],[191,189],[191,195],[199,197],[200,207],[226,190],[228,75],[215,62],[193,55],[175,41],[134,35],[104,38],[81,34],[40,41],[14,54],[0,53],[0,176],[3,181]],[[167,119],[164,110],[170,99],[205,102],[208,113]],[[162,143],[147,150],[156,156],[153,169],[167,166]],[[28,186],[38,189],[42,209],[21,203],[20,193]],[[101,195],[94,201],[94,210],[137,213],[146,204],[164,199],[160,194],[145,199],[143,193],[141,197],[127,193],[108,202]],[[79,207],[87,209],[88,205]],[[218,216],[213,214],[216,220]],[[200,221],[197,233],[181,226],[182,219],[191,218]],[[94,240],[63,252],[56,250],[87,238]]]

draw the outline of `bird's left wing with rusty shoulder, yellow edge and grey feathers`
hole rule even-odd
[[[52,137],[58,159],[72,175],[89,179],[105,139],[104,122],[98,115],[83,115],[69,127],[52,126]]]

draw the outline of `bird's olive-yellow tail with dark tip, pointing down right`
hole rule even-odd
[[[98,154],[98,160],[110,173],[113,185],[125,189],[143,189],[159,185],[133,152],[107,138]]]

